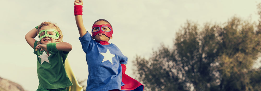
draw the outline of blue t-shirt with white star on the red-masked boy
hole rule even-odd
[[[127,64],[128,58],[115,44],[102,45],[93,40],[88,32],[79,40],[88,64],[86,91],[121,90],[124,85],[121,64]]]

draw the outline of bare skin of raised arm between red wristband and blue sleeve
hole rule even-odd
[[[83,25],[82,15],[75,15],[75,21],[76,21],[76,25],[77,25],[80,36],[81,37],[84,36],[87,32]]]

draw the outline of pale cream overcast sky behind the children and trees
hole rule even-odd
[[[38,88],[36,55],[25,35],[41,22],[57,23],[63,41],[73,46],[67,59],[78,80],[88,77],[85,53],[73,12],[73,0],[5,0],[0,5],[0,77],[25,90]],[[187,21],[225,23],[233,16],[258,22],[258,0],[92,0],[83,1],[83,21],[90,32],[98,19],[109,21],[115,44],[128,57],[126,74],[134,77],[135,56],[152,55],[161,44],[172,47],[175,33]],[[39,41],[39,38],[36,37]],[[258,64],[257,66],[260,66]],[[85,84],[87,82],[85,81]]]

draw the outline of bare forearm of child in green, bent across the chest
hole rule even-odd
[[[56,49],[62,51],[71,51],[73,49],[72,45],[67,42],[56,43]]]

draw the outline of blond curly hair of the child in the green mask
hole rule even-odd
[[[37,35],[39,35],[39,31],[41,30],[42,27],[44,26],[51,26],[51,27],[54,27],[55,30],[58,31],[58,33],[60,34],[59,36],[59,41],[58,42],[63,42],[63,34],[62,34],[62,31],[61,29],[54,23],[51,23],[51,22],[42,22],[40,25],[38,25],[38,29],[37,29]],[[38,36],[39,37],[39,36]],[[37,42],[37,44],[41,44],[40,41]]]

